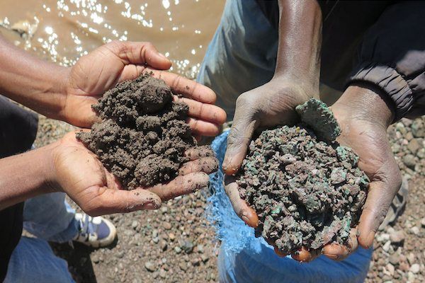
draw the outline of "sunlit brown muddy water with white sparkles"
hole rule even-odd
[[[196,76],[225,0],[1,0],[0,33],[59,64],[111,40],[150,41]]]

